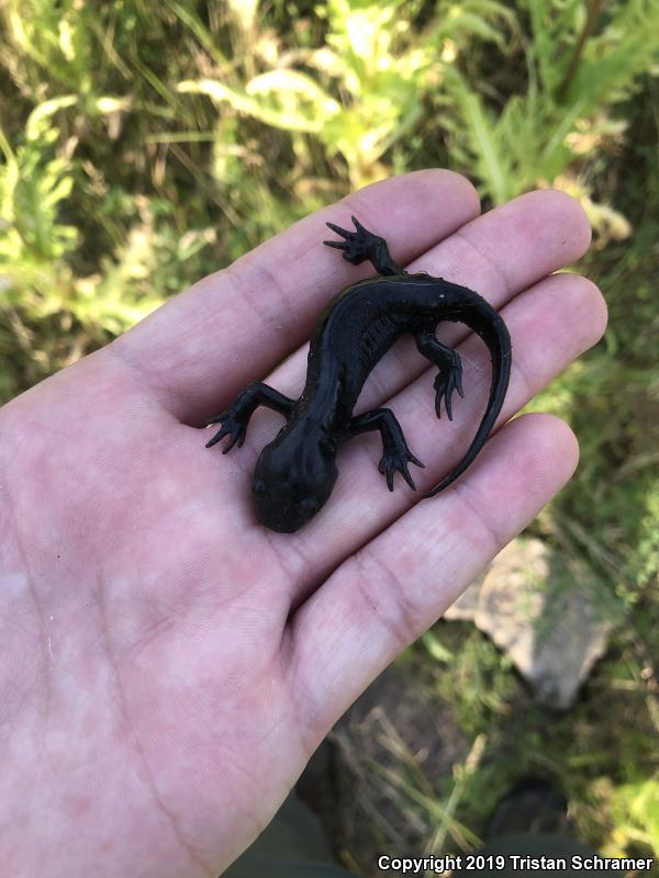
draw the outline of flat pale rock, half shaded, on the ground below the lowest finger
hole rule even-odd
[[[576,574],[541,540],[518,538],[447,618],[472,618],[510,655],[536,700],[565,710],[612,629],[595,609],[589,578],[585,565]]]

